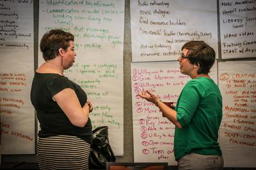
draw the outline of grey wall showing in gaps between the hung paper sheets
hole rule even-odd
[[[38,67],[38,13],[39,3],[34,1],[34,56],[35,69]],[[219,17],[218,17],[219,18]],[[218,22],[219,23],[219,22]],[[117,157],[116,162],[133,162],[133,134],[132,134],[132,95],[131,95],[131,23],[130,23],[130,1],[125,0],[125,32],[124,32],[124,156]],[[218,27],[220,32],[220,27]],[[220,39],[220,35],[219,39]],[[220,42],[218,43],[219,53]],[[226,60],[256,60],[250,59],[226,59]],[[221,56],[218,61],[222,60]],[[37,126],[37,125],[36,125]],[[36,130],[35,130],[36,131]],[[4,162],[36,162],[35,155],[2,155]],[[244,168],[225,168],[225,169],[244,169]],[[246,168],[250,169],[250,168]]]

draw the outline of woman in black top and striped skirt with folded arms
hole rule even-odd
[[[63,76],[73,65],[74,36],[60,29],[44,34],[40,50],[45,62],[31,87],[31,102],[40,122],[37,158],[40,169],[88,169],[92,103],[79,85]]]

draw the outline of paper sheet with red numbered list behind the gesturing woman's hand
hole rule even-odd
[[[180,73],[179,62],[132,63],[131,73],[134,161],[176,165],[173,153],[175,126],[162,117],[155,104],[141,99],[138,94],[150,90],[161,100],[172,100],[175,105],[191,78]],[[211,75],[216,77],[216,65]]]

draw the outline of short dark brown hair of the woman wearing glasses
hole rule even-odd
[[[189,50],[187,54],[189,62],[199,66],[198,74],[208,74],[215,62],[214,49],[204,41],[189,41],[182,46],[181,50],[184,48]]]

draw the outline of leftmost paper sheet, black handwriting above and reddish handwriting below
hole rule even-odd
[[[33,1],[0,3],[1,154],[35,153]],[[22,147],[21,147],[22,146]]]

